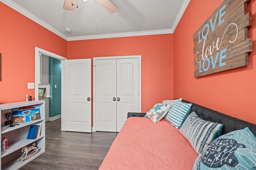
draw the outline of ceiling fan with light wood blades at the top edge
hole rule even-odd
[[[83,1],[86,2],[87,0]],[[97,2],[100,3],[110,14],[113,14],[118,10],[115,4],[113,4],[110,0],[97,0]],[[76,8],[78,8],[78,0],[65,0],[63,9],[74,11],[75,4]]]

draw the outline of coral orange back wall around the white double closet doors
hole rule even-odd
[[[141,55],[142,112],[173,98],[173,35],[68,41],[68,59]]]

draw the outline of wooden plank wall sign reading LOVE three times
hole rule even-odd
[[[252,39],[248,0],[224,0],[194,33],[194,77],[248,65]]]

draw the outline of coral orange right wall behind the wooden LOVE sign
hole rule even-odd
[[[223,0],[190,0],[174,31],[174,98],[256,123],[256,0],[248,3],[252,52],[248,66],[194,78],[193,34]]]

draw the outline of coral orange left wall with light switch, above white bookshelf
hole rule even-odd
[[[35,82],[35,47],[67,54],[67,41],[0,2],[0,53],[2,81],[0,104],[26,100],[28,82]]]

